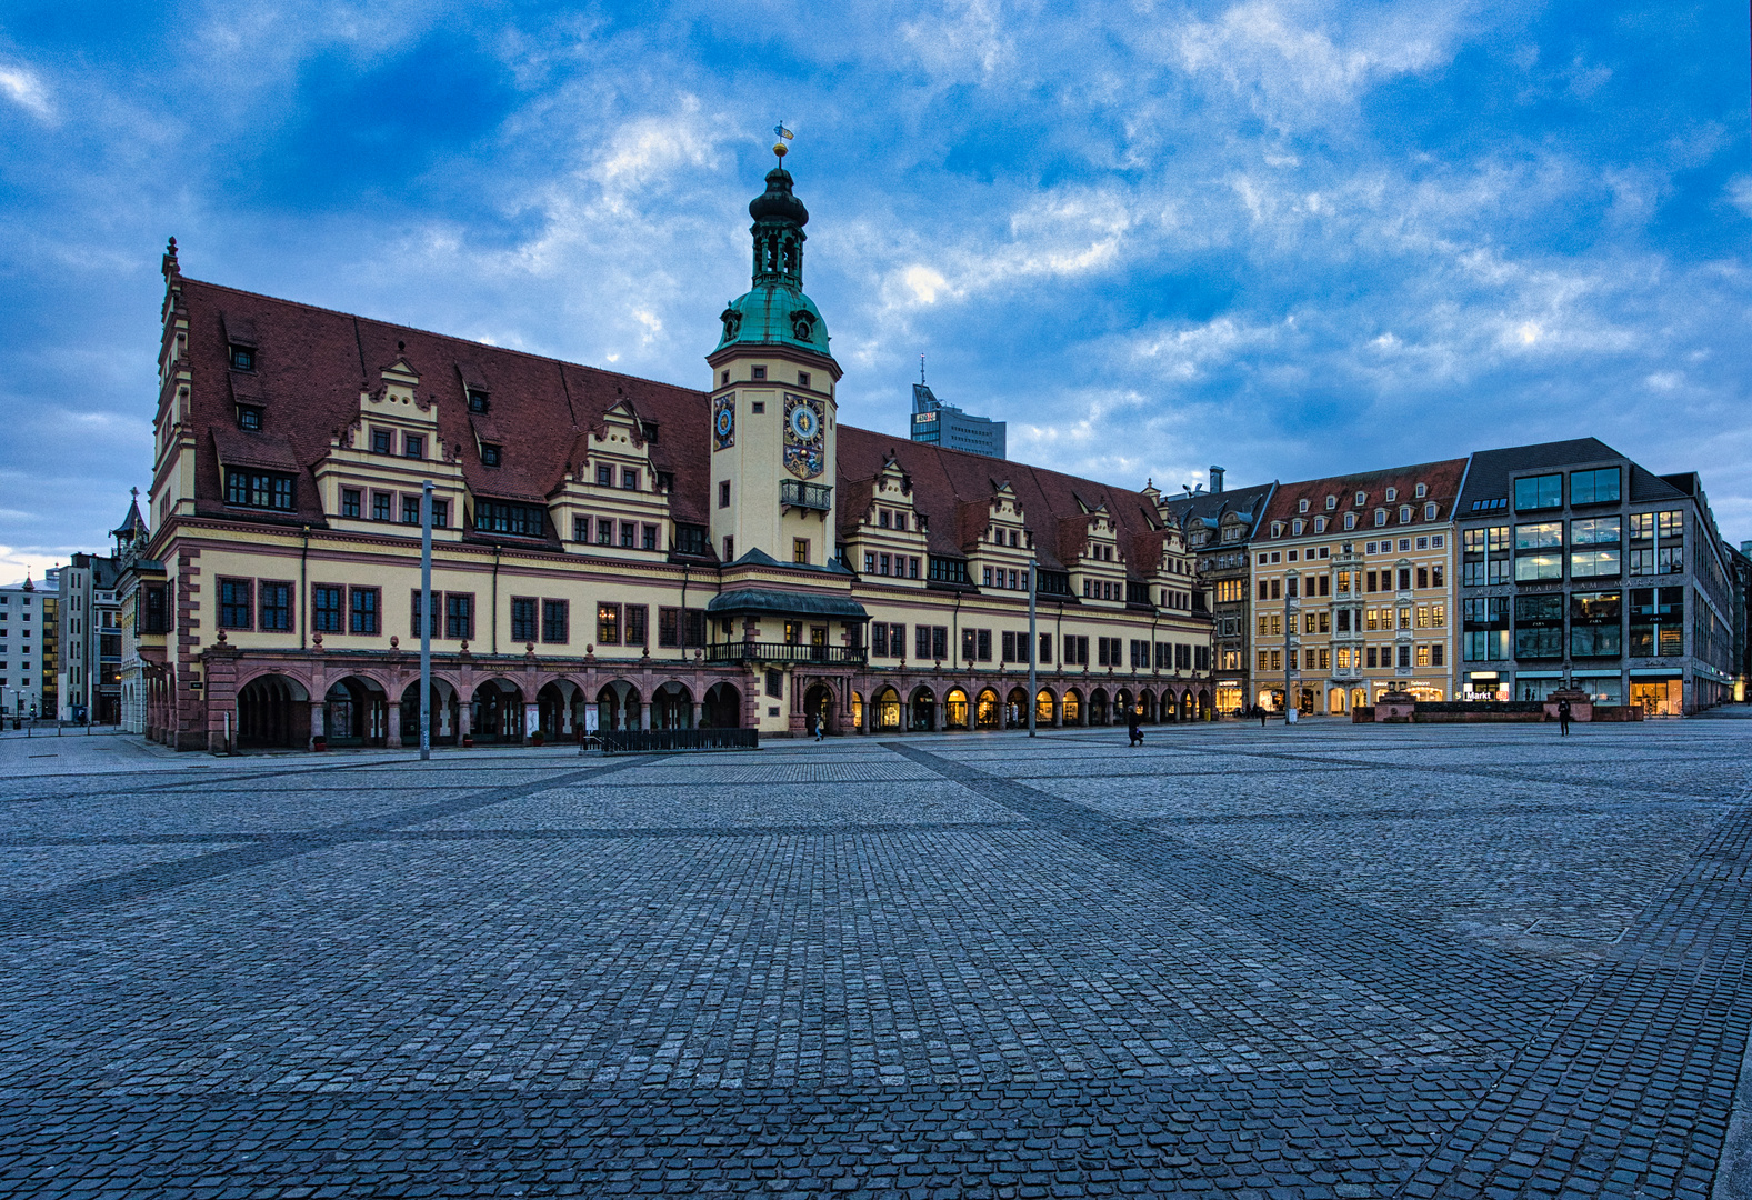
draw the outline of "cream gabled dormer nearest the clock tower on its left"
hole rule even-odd
[[[548,496],[554,527],[569,550],[625,557],[666,557],[675,531],[669,492],[652,462],[655,427],[617,399],[573,445],[561,485]]]

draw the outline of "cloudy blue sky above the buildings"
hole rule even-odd
[[[158,275],[704,385],[774,121],[844,419],[1177,489],[1594,434],[1752,538],[1731,4],[0,7],[0,575],[151,471]]]

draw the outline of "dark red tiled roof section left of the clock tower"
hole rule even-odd
[[[310,469],[329,452],[329,440],[359,419],[359,391],[377,391],[382,370],[406,359],[419,377],[419,398],[438,398],[438,433],[445,454],[461,462],[477,496],[545,499],[576,464],[580,434],[599,427],[601,413],[625,399],[641,420],[657,424],[652,461],[675,475],[671,512],[678,520],[706,520],[710,473],[704,448],[708,401],[703,392],[618,375],[594,366],[484,345],[368,317],[331,312],[221,284],[180,279],[189,321],[189,364],[194,377],[191,419],[214,440],[237,433],[233,392],[247,389],[266,410],[277,454],[291,454],[305,480],[298,489],[298,520],[322,524]],[[230,370],[228,329],[249,329],[256,370]],[[247,380],[238,384],[237,380]],[[228,384],[217,384],[226,380]],[[484,387],[491,412],[477,426],[466,387]],[[477,420],[480,419],[475,413]],[[503,438],[505,464],[480,462],[477,427]],[[224,431],[224,433],[221,433]],[[282,448],[284,447],[284,448]],[[233,515],[223,505],[219,462],[200,454],[196,510]]]

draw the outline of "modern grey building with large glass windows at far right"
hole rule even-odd
[[[1733,589],[1698,476],[1594,438],[1472,455],[1456,512],[1463,695],[1559,687],[1650,716],[1733,692]]]

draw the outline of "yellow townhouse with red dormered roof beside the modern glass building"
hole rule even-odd
[[[1251,545],[1254,702],[1454,699],[1451,522],[1466,459],[1281,484]]]

